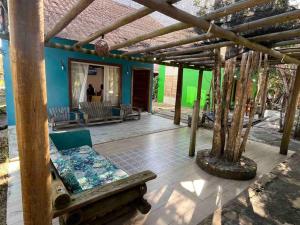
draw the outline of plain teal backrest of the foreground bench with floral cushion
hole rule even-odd
[[[58,150],[77,148],[84,145],[92,147],[92,139],[89,130],[81,129],[67,132],[54,132],[49,134]]]

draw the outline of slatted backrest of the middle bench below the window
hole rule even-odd
[[[109,119],[112,117],[111,102],[80,102],[81,110],[91,119]]]

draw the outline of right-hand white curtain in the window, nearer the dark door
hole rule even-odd
[[[119,67],[104,66],[104,101],[119,104]]]

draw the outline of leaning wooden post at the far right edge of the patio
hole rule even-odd
[[[291,132],[294,125],[295,113],[297,109],[297,100],[300,93],[300,66],[297,67],[296,79],[293,85],[290,101],[285,113],[283,135],[280,145],[280,154],[287,155],[291,138]]]

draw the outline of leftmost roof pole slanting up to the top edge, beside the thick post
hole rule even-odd
[[[56,34],[61,32],[72,22],[83,10],[85,10],[94,0],[79,0],[72,9],[61,18],[60,21],[47,33],[45,41],[49,41]],[[59,4],[59,3],[58,3]]]

